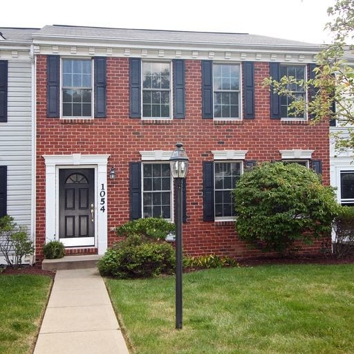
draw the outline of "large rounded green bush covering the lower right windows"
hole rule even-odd
[[[297,240],[328,235],[337,213],[333,189],[296,163],[265,162],[246,171],[234,199],[236,232],[262,250],[283,252]]]

